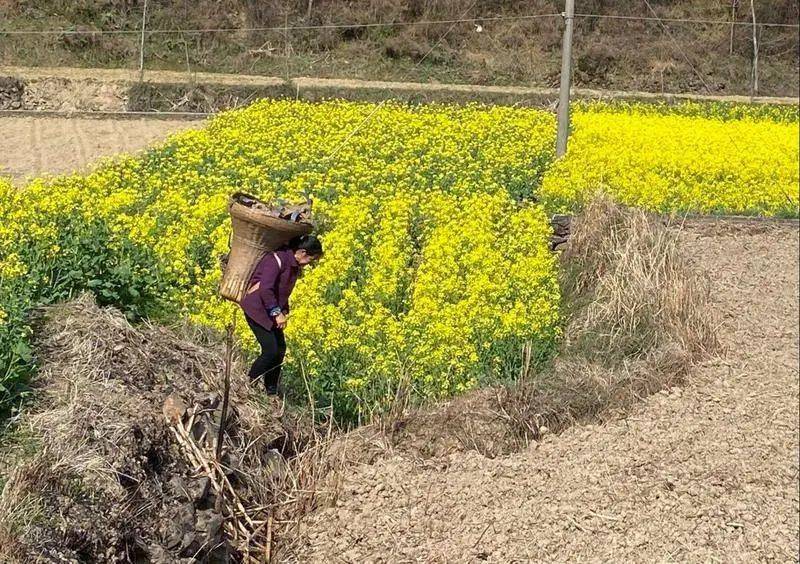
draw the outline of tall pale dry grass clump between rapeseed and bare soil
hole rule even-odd
[[[616,364],[671,345],[689,361],[717,347],[708,285],[681,256],[675,230],[653,216],[596,200],[576,218],[562,262],[564,299],[577,308],[567,353]]]

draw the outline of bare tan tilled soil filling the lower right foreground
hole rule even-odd
[[[359,467],[306,524],[304,558],[796,561],[798,231],[704,226],[682,238],[711,277],[724,358],[627,419],[507,458]]]

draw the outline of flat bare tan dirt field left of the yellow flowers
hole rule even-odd
[[[80,170],[100,157],[132,153],[200,121],[0,117],[0,174],[16,183]]]

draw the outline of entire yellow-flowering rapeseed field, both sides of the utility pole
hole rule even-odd
[[[293,296],[290,388],[357,420],[513,378],[523,345],[545,361],[560,333],[553,211],[605,191],[798,215],[796,115],[679,108],[579,107],[554,162],[541,110],[263,101],[89,174],[0,180],[0,404],[35,368],[37,305],[91,291],[132,319],[224,327],[235,191],[314,200],[326,256]]]

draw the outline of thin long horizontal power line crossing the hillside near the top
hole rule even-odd
[[[375,28],[375,27],[413,27],[419,25],[437,25],[437,24],[459,24],[459,23],[487,23],[499,21],[522,21],[534,20],[542,18],[560,18],[561,13],[549,14],[529,14],[519,16],[489,16],[489,17],[476,17],[476,18],[459,18],[454,20],[421,20],[415,22],[370,22],[370,23],[336,23],[336,24],[320,24],[320,25],[296,25],[296,26],[269,26],[269,27],[219,27],[219,28],[206,28],[206,29],[150,29],[146,31],[147,35],[165,35],[165,34],[181,34],[181,33],[234,33],[234,32],[254,32],[254,31],[305,31],[305,30],[322,30],[322,29],[360,29],[360,28]],[[729,20],[707,20],[695,18],[659,18],[650,16],[625,16],[617,14],[575,14],[576,18],[597,18],[597,19],[611,19],[611,20],[628,20],[628,21],[650,21],[650,22],[668,22],[668,23],[685,23],[695,25],[739,25],[739,26],[752,26],[752,22],[748,21],[729,21]],[[779,22],[759,22],[756,24],[763,27],[781,27],[781,28],[800,28],[800,24],[787,24]],[[140,34],[140,29],[105,29],[105,30],[90,30],[90,29],[4,29],[0,30],[3,35],[130,35]]]

